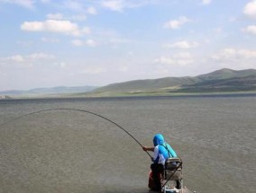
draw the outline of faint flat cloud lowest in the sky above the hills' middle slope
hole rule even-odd
[[[194,58],[188,52],[181,52],[171,57],[156,58],[154,62],[169,66],[187,66],[194,62]]]

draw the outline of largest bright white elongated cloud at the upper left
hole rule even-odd
[[[82,36],[90,33],[89,28],[79,29],[78,24],[63,20],[47,20],[44,22],[23,22],[23,31],[47,31],[63,33],[72,36]]]

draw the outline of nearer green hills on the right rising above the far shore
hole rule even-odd
[[[256,70],[221,69],[194,77],[166,77],[112,83],[97,88],[91,95],[118,95],[140,93],[177,92],[245,92],[256,91]]]

